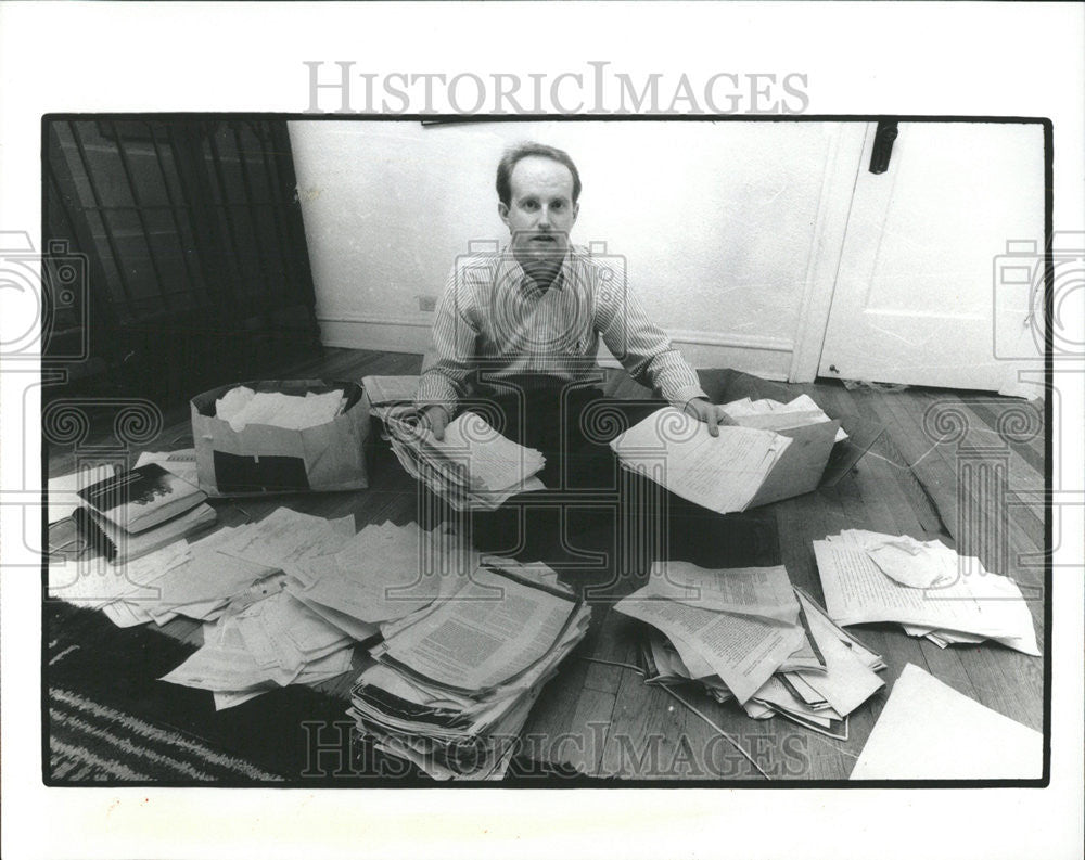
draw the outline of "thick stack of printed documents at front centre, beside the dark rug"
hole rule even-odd
[[[486,557],[446,600],[382,622],[349,713],[379,749],[435,779],[500,779],[588,620],[550,568]]]

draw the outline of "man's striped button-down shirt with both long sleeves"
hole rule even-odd
[[[437,305],[418,406],[437,403],[454,415],[461,398],[502,381],[586,380],[598,372],[600,336],[635,380],[678,408],[705,397],[613,259],[574,246],[541,288],[507,251],[461,257]]]

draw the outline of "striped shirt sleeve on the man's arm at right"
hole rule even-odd
[[[596,320],[607,348],[637,382],[649,385],[677,409],[707,395],[697,372],[660,329],[625,279],[613,272],[596,290]]]

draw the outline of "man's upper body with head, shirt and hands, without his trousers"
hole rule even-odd
[[[580,194],[572,158],[538,143],[518,146],[498,165],[497,192],[510,253],[483,267],[492,273],[486,281],[457,267],[437,308],[418,396],[434,435],[444,437],[474,371],[490,380],[586,378],[600,335],[634,378],[718,435],[717,425],[730,421],[693,370],[634,296],[613,283],[599,291],[612,270],[570,244]]]

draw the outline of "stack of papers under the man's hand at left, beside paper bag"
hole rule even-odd
[[[416,422],[387,419],[392,450],[407,473],[457,511],[494,511],[519,492],[545,489],[546,459],[507,439],[484,418],[464,412],[437,438]]]

